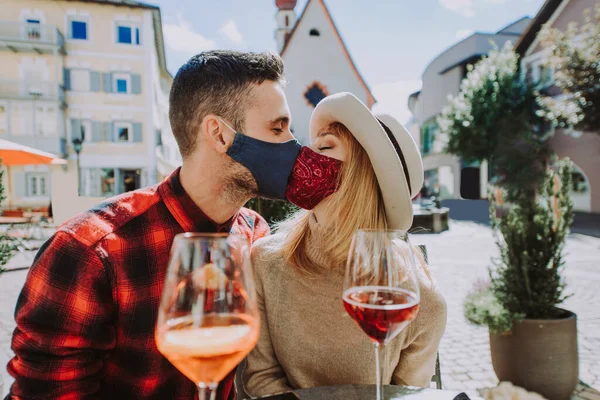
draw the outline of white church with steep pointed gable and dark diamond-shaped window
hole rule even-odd
[[[285,62],[285,92],[292,113],[292,130],[308,143],[313,108],[325,96],[352,92],[369,108],[375,103],[358,72],[324,0],[308,0],[296,19],[296,0],[277,0],[277,49]]]

